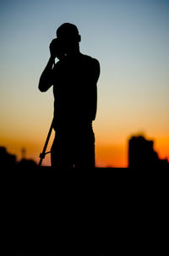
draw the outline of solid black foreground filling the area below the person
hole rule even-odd
[[[2,255],[138,255],[166,249],[167,172],[1,173]]]

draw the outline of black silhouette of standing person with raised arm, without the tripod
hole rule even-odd
[[[78,28],[64,23],[50,44],[51,57],[41,74],[39,89],[53,86],[55,138],[51,148],[54,168],[95,168],[95,120],[100,64],[79,51]],[[55,58],[58,58],[55,64]]]

